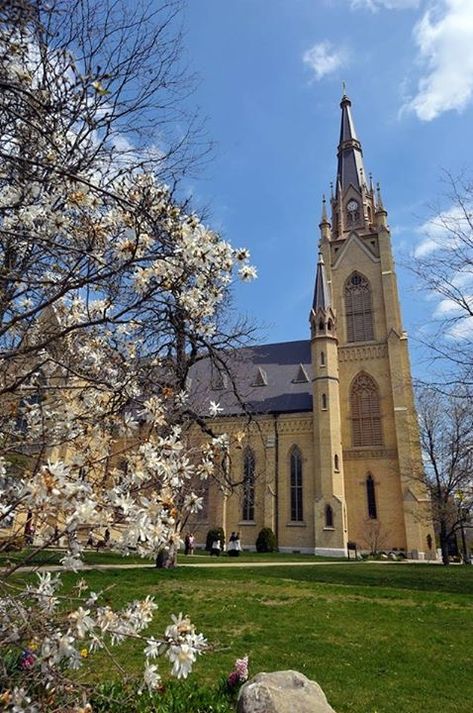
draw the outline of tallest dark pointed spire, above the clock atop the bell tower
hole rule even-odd
[[[365,175],[363,153],[351,115],[351,101],[346,94],[342,97],[340,107],[342,110],[342,120],[337,153],[337,187],[340,185],[342,192],[345,192],[351,184],[361,193],[362,182],[364,182]]]

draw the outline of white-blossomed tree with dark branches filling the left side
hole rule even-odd
[[[156,13],[121,3],[0,9],[0,532],[5,549],[34,545],[0,582],[7,710],[87,710],[68,672],[127,636],[144,637],[150,690],[159,654],[185,677],[205,647],[181,615],[146,639],[149,598],[116,612],[83,582],[64,603],[59,575],[26,588],[14,577],[58,543],[77,570],[84,531],[106,531],[124,554],[172,549],[200,507],[192,482],[226,458],[210,431],[188,448],[189,420],[204,425],[209,405],[188,407],[187,376],[238,341],[223,305],[234,274],[256,273],[163,183],[189,132],[159,150],[144,142],[173,87],[176,9],[163,3],[154,30]]]

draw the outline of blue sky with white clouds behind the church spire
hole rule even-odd
[[[192,102],[216,157],[189,185],[259,278],[235,307],[259,341],[308,337],[321,195],[336,170],[342,80],[383,189],[414,368],[435,303],[403,268],[426,240],[442,172],[472,165],[473,0],[188,0]]]

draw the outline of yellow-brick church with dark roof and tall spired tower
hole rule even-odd
[[[196,364],[191,391],[219,404],[234,487],[210,483],[198,519],[240,533],[263,527],[280,551],[435,558],[430,500],[379,184],[363,165],[351,101],[341,100],[337,175],[325,198],[308,339],[238,350],[228,373]],[[230,388],[236,386],[236,389]],[[238,398],[236,393],[238,394]]]

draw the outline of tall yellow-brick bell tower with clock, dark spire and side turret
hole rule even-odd
[[[346,94],[340,107],[310,314],[315,549],[336,554],[348,539],[362,550],[434,557],[388,214],[379,184],[366,178]]]

